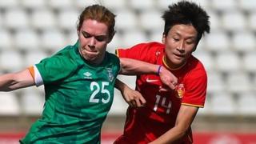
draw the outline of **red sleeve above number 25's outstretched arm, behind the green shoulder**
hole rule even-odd
[[[128,49],[118,49],[116,54],[119,58],[133,58],[144,62],[154,62],[156,51],[160,49],[158,42],[140,43]]]

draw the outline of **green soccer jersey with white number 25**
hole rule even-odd
[[[88,64],[78,42],[36,68],[45,86],[46,102],[22,143],[100,143],[102,123],[110,110],[119,59],[106,52],[102,64]]]

